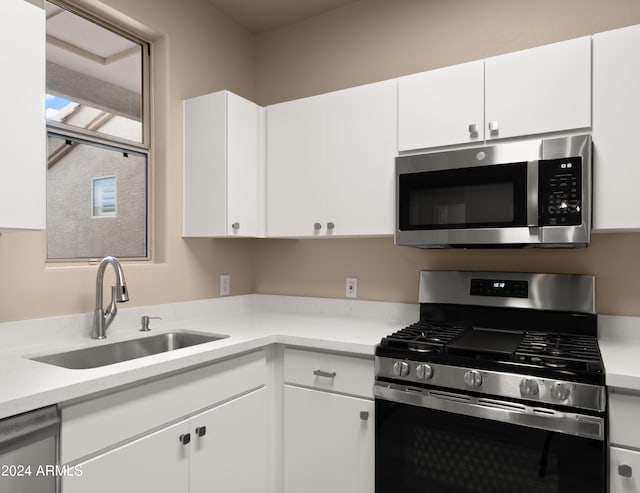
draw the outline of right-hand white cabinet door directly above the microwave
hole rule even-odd
[[[487,140],[591,126],[591,38],[485,60]]]

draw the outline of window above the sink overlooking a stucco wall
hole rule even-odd
[[[148,258],[149,44],[45,7],[47,258]]]

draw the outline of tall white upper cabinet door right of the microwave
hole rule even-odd
[[[640,26],[593,36],[593,229],[640,230]]]

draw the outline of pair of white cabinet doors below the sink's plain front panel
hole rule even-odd
[[[81,475],[65,478],[63,492],[267,493],[266,392],[256,390],[82,462],[72,469]]]

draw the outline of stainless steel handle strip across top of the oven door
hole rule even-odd
[[[376,382],[376,399],[604,440],[604,418],[466,394]]]

